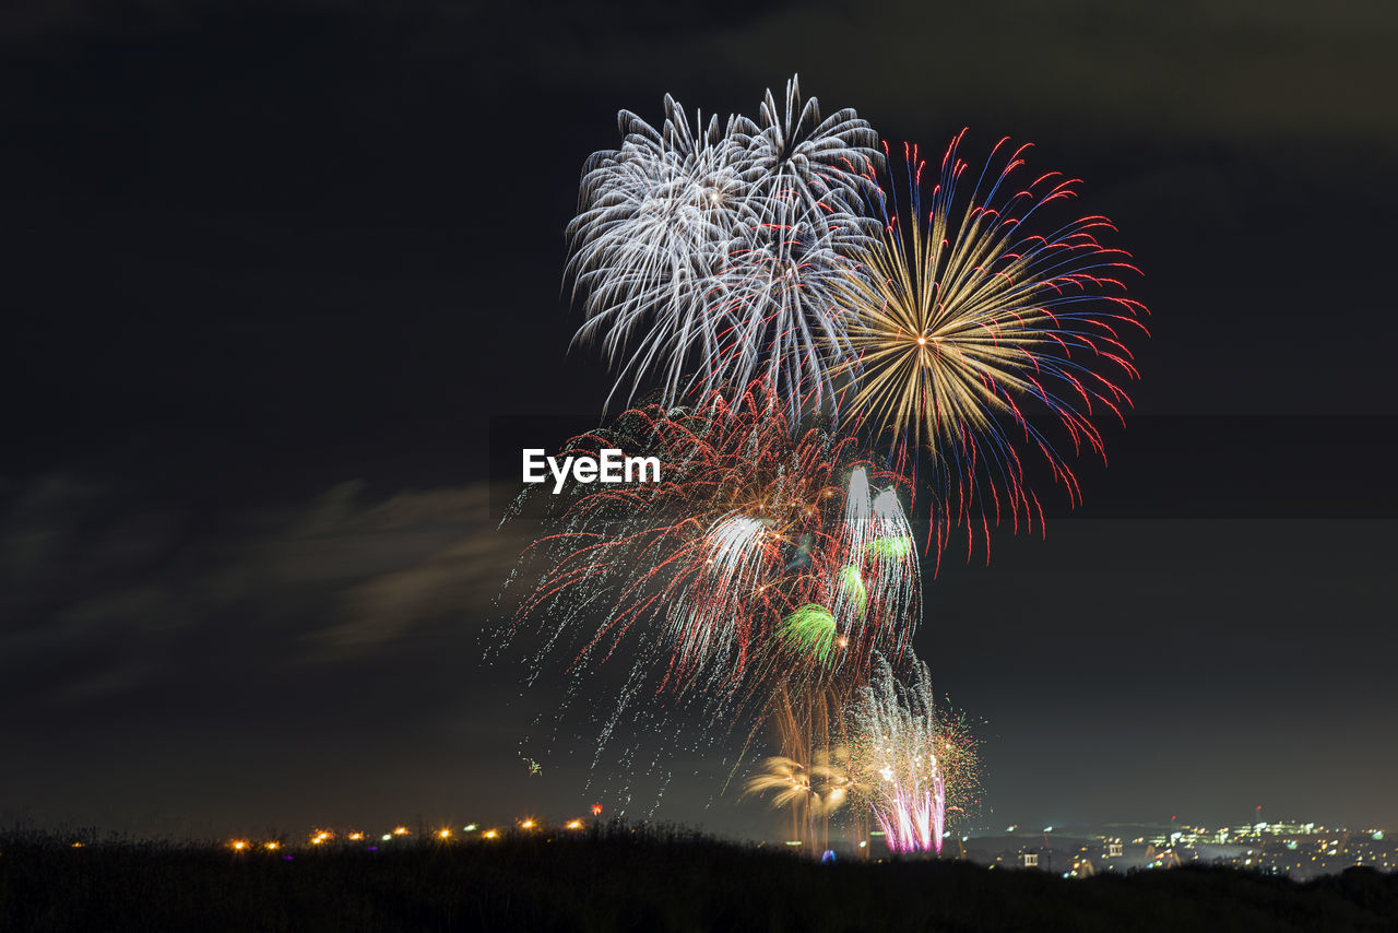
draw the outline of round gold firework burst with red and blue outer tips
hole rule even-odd
[[[930,450],[938,547],[953,525],[970,533],[977,515],[987,536],[1007,513],[1016,527],[1043,520],[1021,448],[1042,455],[1069,499],[1079,498],[1032,415],[1061,424],[1075,452],[1102,453],[1090,418],[1121,418],[1130,406],[1113,379],[1137,376],[1125,339],[1145,330],[1145,306],[1124,294],[1123,276],[1137,271],[1130,256],[1097,241],[1111,222],[1040,224],[1047,206],[1075,197],[1076,179],[1022,179],[1028,145],[993,169],[1001,140],[962,203],[960,140],[928,179],[930,206],[925,165],[916,148],[905,151],[906,204],[893,185],[879,192],[884,234],[856,253],[861,274],[835,288],[858,361],[851,407],[900,455]]]

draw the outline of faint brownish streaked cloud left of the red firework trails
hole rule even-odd
[[[34,478],[0,509],[3,692],[78,704],[182,676],[292,676],[433,621],[478,629],[526,544],[495,527],[489,494],[372,499],[344,483],[302,506],[196,516]]]

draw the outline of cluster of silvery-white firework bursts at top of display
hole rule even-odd
[[[575,341],[601,344],[617,389],[657,380],[667,406],[755,379],[793,418],[833,404],[847,346],[833,288],[878,227],[861,210],[877,134],[849,109],[822,120],[795,78],[784,111],[769,91],[758,120],[695,122],[668,95],[660,129],[624,111],[622,147],[587,161]]]

